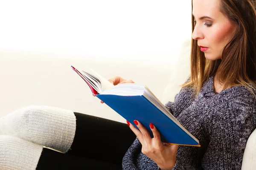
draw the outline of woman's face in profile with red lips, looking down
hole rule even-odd
[[[220,12],[219,6],[220,0],[193,0],[196,25],[192,38],[198,40],[198,46],[209,60],[221,59],[224,46],[237,28]]]

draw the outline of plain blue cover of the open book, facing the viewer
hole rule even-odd
[[[98,94],[96,96],[135,127],[137,126],[133,121],[138,120],[150,132],[151,137],[153,135],[149,123],[155,125],[161,134],[163,143],[199,145],[195,139],[144,96],[118,96],[110,94]]]

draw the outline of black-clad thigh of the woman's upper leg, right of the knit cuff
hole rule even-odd
[[[76,113],[76,134],[67,152],[88,159],[121,165],[136,136],[127,124]]]

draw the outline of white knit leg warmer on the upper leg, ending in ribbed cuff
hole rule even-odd
[[[70,149],[76,132],[73,111],[29,106],[0,118],[0,135],[12,135],[61,152]]]

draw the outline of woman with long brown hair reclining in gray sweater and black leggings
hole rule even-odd
[[[25,136],[23,139],[29,138],[29,141],[36,144],[62,152],[68,150],[67,154],[61,154],[44,148],[41,156],[37,154],[35,159],[39,159],[37,169],[50,169],[53,166],[60,168],[60,164],[75,166],[82,157],[84,164],[94,169],[118,169],[122,155],[124,170],[241,169],[247,139],[256,127],[255,28],[254,0],[192,0],[191,76],[175,96],[175,101],[168,102],[166,107],[181,125],[200,141],[201,147],[163,145],[157,127],[150,125],[154,134],[154,138],[151,139],[148,131],[137,120],[134,120],[134,123],[139,130],[127,122],[131,129],[128,131],[127,126],[123,126],[122,123],[111,122],[111,128],[108,127],[109,120],[73,114],[71,111],[60,113],[52,108],[48,111],[37,108],[17,111],[11,114],[13,118],[6,116],[5,120],[0,121],[0,125],[3,125],[8,120],[16,120],[17,115],[24,119],[40,113],[33,119],[35,123],[30,123],[34,126],[27,127],[29,137],[26,134],[27,130],[20,130],[17,133],[19,130],[15,130],[14,126],[9,128],[11,130],[6,130],[7,125],[2,126],[1,133],[15,133],[16,136]],[[129,82],[121,77],[113,77],[109,81],[114,85]],[[52,117],[47,119],[47,116],[44,116],[44,119],[39,119],[40,115],[51,116],[51,113],[61,115],[56,116],[56,120],[61,120],[61,123],[54,122],[58,123],[57,130],[46,128],[52,127],[51,122],[47,121],[52,120]],[[48,126],[40,124],[38,120],[47,122]],[[19,124],[19,127],[25,122]],[[66,126],[63,126],[65,123]],[[99,126],[102,126],[99,128],[101,130],[105,127],[106,131],[97,131]],[[41,127],[44,127],[40,133],[43,137],[31,132]],[[63,136],[65,130],[69,133]],[[46,133],[52,134],[47,135],[51,140],[45,140]],[[61,136],[57,136],[60,142],[52,140],[58,133]],[[109,139],[105,140],[106,138]],[[108,143],[102,145],[102,142]],[[38,150],[40,152],[40,147]],[[69,156],[79,157],[74,159]]]

